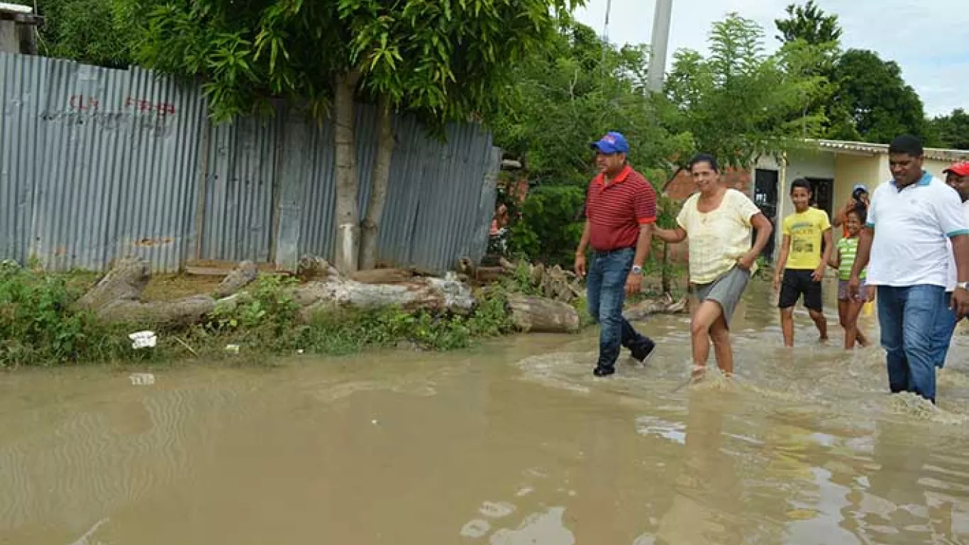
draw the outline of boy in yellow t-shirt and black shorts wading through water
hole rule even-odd
[[[822,303],[821,281],[831,255],[831,223],[828,212],[813,208],[811,183],[797,178],[791,183],[791,201],[795,213],[784,218],[784,240],[774,274],[774,290],[780,287],[777,306],[781,309],[781,331],[784,345],[794,346],[794,305],[801,295],[821,334],[828,340],[828,320]],[[783,276],[782,276],[783,274]]]

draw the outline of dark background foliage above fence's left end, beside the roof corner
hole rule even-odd
[[[126,68],[135,43],[131,19],[110,0],[40,0],[40,52],[107,66]]]

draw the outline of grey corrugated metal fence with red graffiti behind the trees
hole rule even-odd
[[[291,269],[332,257],[332,126],[276,107],[213,126],[195,84],[0,53],[0,258],[102,271],[125,255],[158,272],[251,259]],[[487,245],[500,153],[477,125],[447,143],[410,118],[397,145],[378,259],[432,271]],[[359,107],[359,202],[377,143]]]

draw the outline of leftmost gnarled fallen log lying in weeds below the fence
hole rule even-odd
[[[255,264],[243,262],[230,272],[217,290],[231,296],[234,290],[248,284]],[[75,307],[94,312],[108,323],[130,323],[151,326],[188,326],[198,323],[211,312],[218,301],[209,295],[195,295],[174,301],[142,302],[141,292],[151,278],[147,261],[125,258],[117,262]],[[253,278],[255,279],[255,278]]]

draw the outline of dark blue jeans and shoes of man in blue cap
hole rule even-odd
[[[643,337],[622,317],[626,299],[626,278],[633,268],[636,250],[623,248],[611,252],[592,252],[592,265],[585,280],[589,315],[600,324],[599,364],[612,368],[619,359],[619,348],[636,353],[648,352],[652,340]]]

